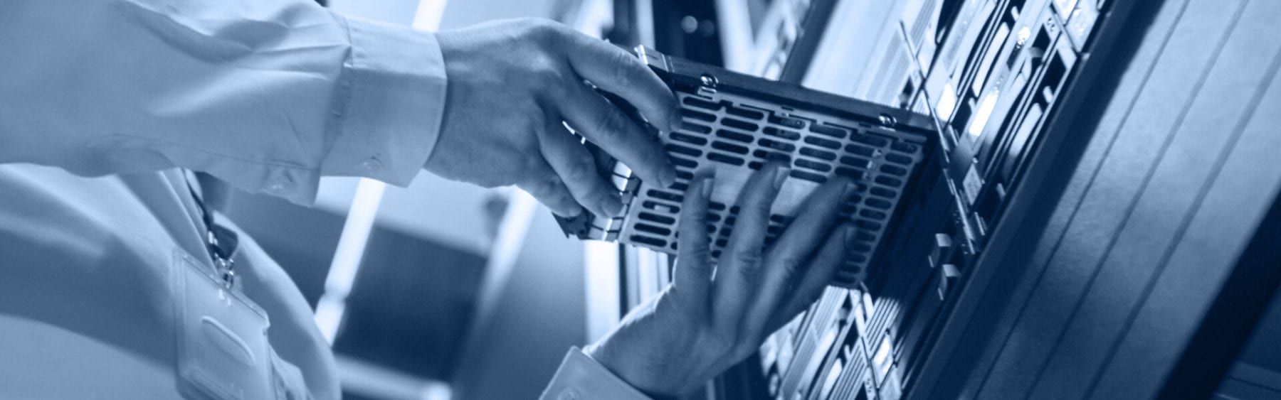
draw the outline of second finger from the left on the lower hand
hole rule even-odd
[[[739,212],[716,272],[717,314],[738,319],[756,296],[762,247],[770,224],[770,208],[789,169],[770,162],[752,174],[739,194]]]

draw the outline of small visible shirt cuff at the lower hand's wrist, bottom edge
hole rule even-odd
[[[539,397],[543,400],[579,400],[579,399],[620,399],[620,400],[648,400],[646,396],[623,378],[615,376],[605,365],[573,348],[561,360],[560,369],[547,385],[547,390]]]

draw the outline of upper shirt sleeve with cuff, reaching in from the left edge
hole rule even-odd
[[[445,107],[434,35],[311,0],[6,0],[0,52],[0,162],[304,204],[322,175],[409,184]]]

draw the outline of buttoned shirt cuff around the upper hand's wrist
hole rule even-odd
[[[445,115],[445,59],[436,35],[333,14],[347,27],[347,91],[322,175],[409,185],[436,148]]]

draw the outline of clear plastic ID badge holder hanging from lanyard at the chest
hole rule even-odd
[[[174,254],[179,391],[190,399],[275,399],[266,313],[206,270]]]

